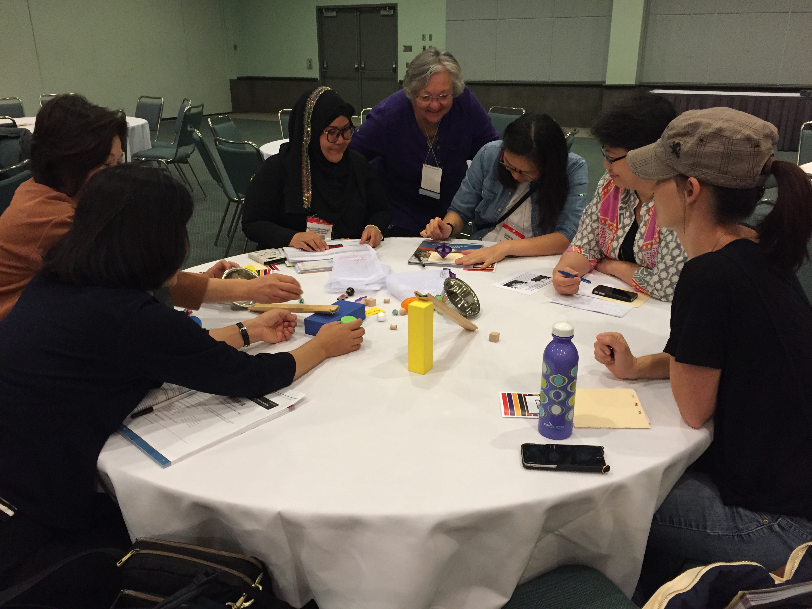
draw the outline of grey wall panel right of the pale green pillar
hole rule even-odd
[[[650,0],[641,80],[812,84],[812,0]]]

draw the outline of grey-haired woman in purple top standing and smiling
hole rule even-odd
[[[446,214],[466,161],[498,139],[460,64],[432,46],[409,64],[404,88],[372,109],[350,148],[367,158],[387,191],[387,235],[419,237],[431,218]]]

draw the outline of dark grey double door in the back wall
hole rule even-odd
[[[398,90],[397,6],[319,6],[322,84],[360,114]]]

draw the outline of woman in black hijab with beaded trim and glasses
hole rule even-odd
[[[376,247],[391,213],[369,163],[348,149],[355,109],[329,87],[304,93],[291,112],[291,140],[268,158],[245,193],[243,232],[260,248],[324,251],[316,231]]]

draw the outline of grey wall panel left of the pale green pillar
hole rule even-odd
[[[611,0],[447,0],[465,80],[602,83]]]

